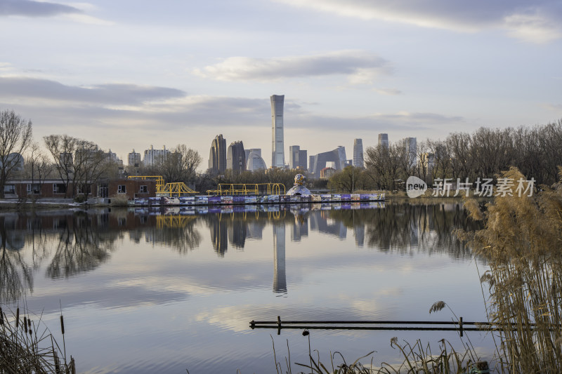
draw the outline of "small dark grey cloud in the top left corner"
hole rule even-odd
[[[78,8],[63,4],[30,0],[0,0],[1,15],[25,17],[51,17],[53,15],[81,13]]]

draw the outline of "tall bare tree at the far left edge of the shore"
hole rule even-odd
[[[32,142],[32,122],[22,119],[13,110],[0,112],[0,198],[4,185],[20,164],[21,154]]]

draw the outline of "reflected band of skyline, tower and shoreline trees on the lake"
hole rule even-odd
[[[216,211],[218,209],[218,211]],[[273,230],[273,291],[287,293],[285,241],[307,243],[311,232],[341,240],[353,234],[355,246],[403,254],[447,253],[471,258],[454,236],[455,228],[478,229],[461,204],[410,203],[303,204],[200,208],[93,209],[4,213],[0,215],[0,301],[19,300],[33,290],[35,269],[50,279],[70,278],[110,261],[118,240],[158,244],[185,255],[200,248],[208,227],[219,259],[228,247],[243,251],[248,239],[262,241]],[[270,239],[268,239],[269,241]],[[312,243],[310,243],[312,244]],[[310,245],[309,244],[309,245]],[[22,253],[22,248],[28,251]]]

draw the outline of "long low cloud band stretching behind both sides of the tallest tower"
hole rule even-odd
[[[285,118],[297,128],[340,131],[421,130],[462,124],[460,116],[398,112],[370,116],[322,116],[301,102],[285,102]],[[162,131],[190,126],[260,127],[270,118],[269,98],[188,95],[176,88],[133,84],[67,86],[46,79],[0,77],[0,107],[23,110],[53,123],[92,121],[96,126],[136,126]],[[308,105],[306,105],[308,107]],[[107,125],[104,125],[106,123]]]

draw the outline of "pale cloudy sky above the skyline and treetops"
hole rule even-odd
[[[444,139],[562,118],[562,1],[0,0],[0,110],[124,159]]]

